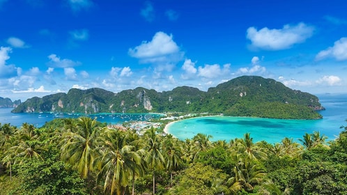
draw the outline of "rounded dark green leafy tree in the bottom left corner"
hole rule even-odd
[[[14,168],[22,182],[10,194],[86,194],[84,180],[59,159],[29,159]]]

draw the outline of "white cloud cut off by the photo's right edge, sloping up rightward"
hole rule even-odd
[[[317,61],[326,58],[334,58],[337,61],[347,60],[347,38],[340,38],[334,42],[334,46],[328,47],[316,55]]]

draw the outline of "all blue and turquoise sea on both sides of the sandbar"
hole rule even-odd
[[[168,132],[178,139],[192,139],[197,133],[213,136],[211,140],[226,140],[242,138],[246,132],[251,134],[254,141],[265,140],[268,143],[276,143],[284,137],[298,141],[305,132],[319,131],[332,140],[341,132],[341,125],[347,126],[347,94],[317,95],[321,104],[325,107],[320,111],[323,119],[319,120],[282,120],[271,118],[247,118],[213,116],[204,118],[190,118],[180,120],[169,125]],[[40,127],[54,118],[78,118],[83,114],[12,114],[12,109],[0,109],[0,123],[10,123],[20,126],[22,123],[33,124]],[[130,120],[149,120],[159,118],[160,114],[94,114],[87,115],[96,117],[100,122],[118,124]]]

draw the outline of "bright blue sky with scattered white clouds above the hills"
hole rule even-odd
[[[347,93],[346,0],[0,0],[0,97],[242,75]]]

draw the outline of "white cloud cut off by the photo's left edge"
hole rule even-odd
[[[0,47],[0,78],[17,76],[18,71],[21,70],[13,64],[6,65],[6,61],[10,59],[10,56],[8,55],[10,52],[12,52],[10,47]]]

